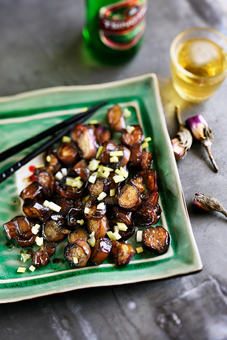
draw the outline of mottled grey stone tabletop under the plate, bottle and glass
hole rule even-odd
[[[142,48],[128,64],[110,67],[94,62],[84,49],[82,8],[79,0],[0,0],[0,95],[157,73],[171,138],[177,132],[173,117],[177,103],[182,106],[183,119],[203,114],[214,133],[212,151],[218,173],[213,172],[205,150],[196,142],[178,163],[204,269],[157,282],[83,289],[1,305],[1,338],[169,339],[168,332],[156,322],[160,305],[210,276],[218,280],[224,294],[227,291],[226,218],[213,212],[204,216],[192,213],[192,198],[197,191],[216,196],[227,208],[227,83],[204,103],[183,101],[171,84],[169,46],[176,34],[194,26],[211,26],[226,33],[226,14],[212,0],[149,0]]]

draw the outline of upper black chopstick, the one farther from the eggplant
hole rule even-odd
[[[68,126],[69,124],[73,123],[73,122],[77,122],[80,118],[83,118],[84,120],[86,118],[88,118],[89,116],[91,116],[91,114],[93,112],[95,112],[98,108],[100,108],[101,106],[107,104],[107,100],[91,107],[90,109],[88,109],[85,112],[81,112],[73,117],[70,117],[66,120],[64,120],[63,122],[56,124],[54,126],[52,126],[51,128],[38,133],[37,135],[24,140],[23,142],[13,146],[12,148],[9,148],[3,152],[0,153],[0,162],[2,162],[3,160],[5,160],[6,158],[9,158],[10,156],[15,155],[16,153],[18,153],[19,151],[30,147],[31,145],[33,145],[36,142],[39,142],[40,140],[44,139],[45,137],[48,137],[50,135],[52,135],[53,133],[55,133],[56,131],[61,130],[62,128],[64,128],[65,126]]]

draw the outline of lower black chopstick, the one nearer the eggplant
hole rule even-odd
[[[79,117],[81,117],[79,120],[77,120],[77,123],[82,123],[84,121],[84,114],[86,114],[85,118],[88,118],[89,116],[92,115],[92,113],[99,107],[105,105],[107,103],[107,101],[104,101],[94,107],[92,107],[91,109],[87,110],[85,113],[83,113],[83,116],[81,117],[81,115]],[[88,114],[89,111],[89,114]],[[78,116],[78,115],[77,115]],[[75,118],[75,117],[73,117]],[[71,118],[70,118],[71,119]],[[68,121],[68,119],[67,119]],[[10,175],[12,175],[15,171],[17,171],[18,169],[20,169],[23,165],[25,165],[26,163],[28,163],[31,159],[33,159],[34,157],[36,157],[37,155],[39,155],[41,152],[45,151],[47,148],[49,148],[53,143],[55,143],[56,141],[58,141],[61,137],[65,136],[70,129],[74,126],[75,121],[73,124],[71,124],[70,126],[67,126],[66,129],[64,129],[63,131],[61,131],[60,133],[56,134],[54,137],[50,138],[49,140],[47,140],[45,143],[43,143],[41,146],[39,146],[37,149],[33,150],[31,153],[29,153],[27,156],[25,156],[24,158],[22,158],[21,160],[19,160],[18,162],[14,163],[11,167],[7,168],[5,171],[3,171],[0,174],[0,183],[3,182],[4,180],[6,180]],[[40,139],[39,139],[40,140]]]

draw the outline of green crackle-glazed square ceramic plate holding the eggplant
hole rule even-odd
[[[7,239],[1,227],[0,302],[19,301],[85,287],[154,280],[202,269],[166,128],[155,74],[97,85],[47,88],[0,98],[1,149],[5,150],[62,119],[77,114],[81,108],[92,106],[105,99],[109,100],[108,105],[99,109],[90,120],[97,119],[104,122],[107,107],[119,103],[132,112],[131,117],[127,118],[127,124],[139,122],[146,137],[152,138],[150,151],[153,152],[153,166],[160,179],[160,204],[163,209],[159,224],[167,228],[171,234],[171,246],[167,253],[161,256],[154,256],[146,251],[136,254],[133,260],[122,268],[115,268],[109,260],[100,266],[90,265],[75,269],[64,260],[65,244],[62,242],[54,257],[59,260],[51,258],[48,266],[36,268],[31,272],[28,269],[31,259],[25,265],[22,264],[21,248],[15,241]],[[1,171],[33,148],[28,146],[27,150],[2,163]],[[28,184],[25,178],[31,175],[29,165],[40,164],[42,162],[40,157],[36,157],[15,175],[1,183],[1,225],[14,216],[21,215],[18,194]],[[135,248],[134,237],[130,243]],[[34,247],[34,250],[36,249],[37,246]],[[25,266],[26,272],[17,273],[19,266]]]

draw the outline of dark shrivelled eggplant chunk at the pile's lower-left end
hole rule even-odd
[[[40,246],[39,250],[36,250],[36,252],[34,253],[32,264],[39,267],[44,267],[48,265],[48,263],[50,262],[50,256],[53,256],[55,254],[56,248],[56,243],[44,242],[44,244]]]

